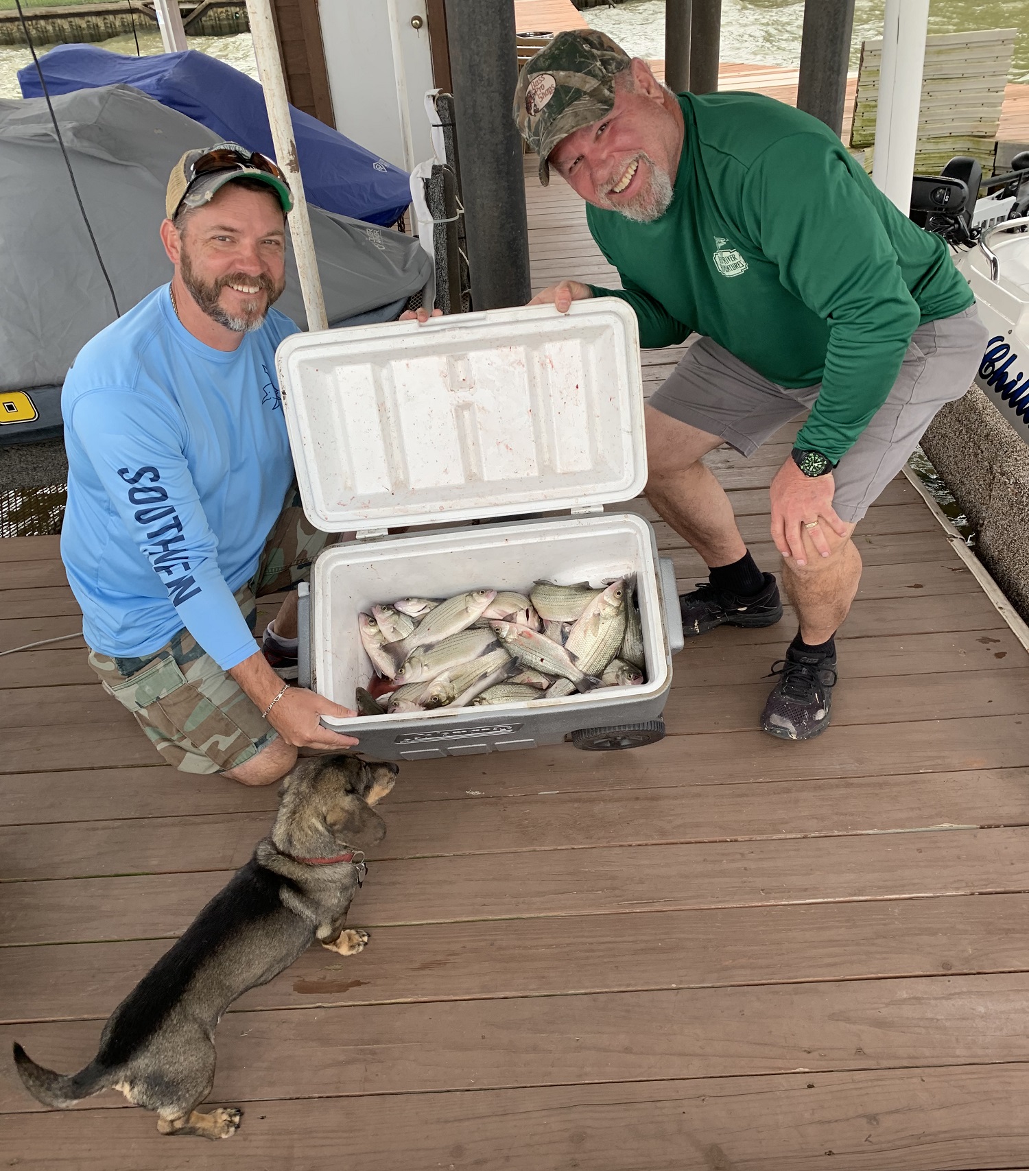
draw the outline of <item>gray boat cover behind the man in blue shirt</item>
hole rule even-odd
[[[124,313],[171,279],[158,228],[172,166],[217,137],[130,85],[61,95],[54,110]],[[310,215],[330,324],[396,317],[430,281],[432,259],[411,237]],[[41,97],[0,101],[0,390],[60,385],[115,310]],[[276,308],[306,327],[291,253]]]

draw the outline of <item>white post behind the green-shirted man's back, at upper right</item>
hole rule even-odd
[[[906,215],[918,144],[929,0],[886,0],[872,182]]]

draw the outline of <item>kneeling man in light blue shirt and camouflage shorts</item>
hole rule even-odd
[[[252,632],[255,597],[295,588],[328,540],[299,507],[275,378],[297,331],[272,309],[291,206],[263,156],[187,151],[160,226],[171,285],[83,347],[62,395],[61,556],[90,665],[165,760],[245,785],[357,744],[320,724],[352,712],[270,665],[295,658],[296,594],[268,657]]]

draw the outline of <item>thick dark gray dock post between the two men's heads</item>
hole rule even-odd
[[[446,0],[446,18],[472,308],[524,304],[531,282],[522,141],[512,117],[514,0]]]

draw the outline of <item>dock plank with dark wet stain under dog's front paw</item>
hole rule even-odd
[[[311,947],[229,1012],[1024,972],[1027,913],[1027,895],[988,895],[379,927],[359,958]],[[105,1020],[167,946],[0,949],[0,1022]]]

